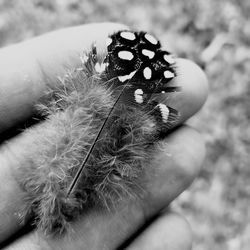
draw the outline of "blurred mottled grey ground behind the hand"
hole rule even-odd
[[[194,250],[249,250],[250,1],[0,0],[0,46],[100,21],[151,32],[205,70],[210,97],[189,123],[203,134],[207,158],[173,207],[192,226]]]

